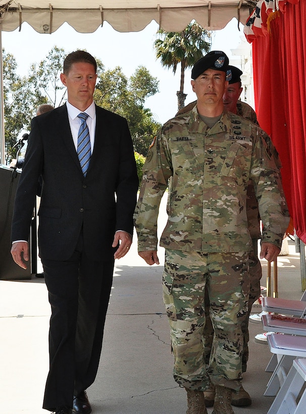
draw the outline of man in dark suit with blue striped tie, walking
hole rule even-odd
[[[114,260],[132,243],[138,178],[131,135],[124,118],[94,104],[96,77],[87,52],[66,57],[68,101],[32,120],[12,222],[11,252],[26,268],[41,175],[38,247],[52,308],[43,408],[56,414],[91,412],[85,390],[98,369]],[[89,166],[78,158],[88,133]]]

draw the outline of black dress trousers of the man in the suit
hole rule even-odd
[[[114,259],[90,261],[82,234],[69,260],[41,259],[52,309],[49,373],[43,408],[72,407],[73,395],[95,379],[111,293]]]

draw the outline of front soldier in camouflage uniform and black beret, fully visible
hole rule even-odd
[[[231,414],[241,385],[241,321],[249,296],[246,191],[254,183],[263,221],[261,258],[280,252],[289,222],[271,141],[258,126],[223,109],[228,58],[213,51],[192,69],[197,105],[168,121],[151,144],[135,210],[138,252],[159,264],[159,204],[172,177],[160,244],[166,248],[163,297],[170,323],[174,379],[187,391],[188,414],[207,413],[203,392],[216,385],[214,414]],[[207,285],[214,326],[209,367],[202,334]]]

